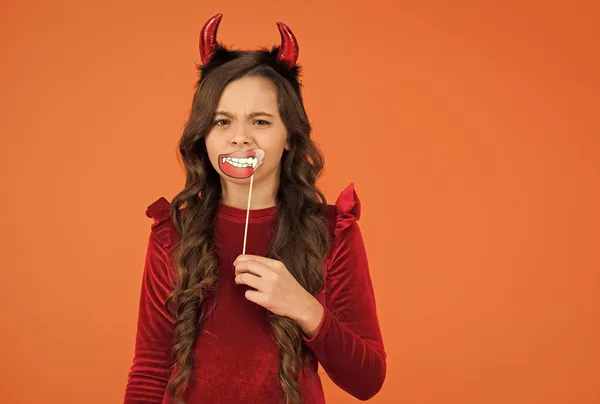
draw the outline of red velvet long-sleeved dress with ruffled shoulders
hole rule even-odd
[[[146,214],[154,219],[140,296],[133,366],[125,404],[167,404],[172,374],[173,322],[164,302],[174,288],[169,254],[178,233],[170,204],[160,198]],[[316,296],[325,314],[313,338],[304,343],[331,380],[354,397],[366,400],[381,388],[386,354],[377,319],[373,287],[357,220],[360,202],[353,185],[328,206],[331,248],[324,262],[325,286]],[[265,256],[276,207],[250,211],[246,253]],[[246,211],[221,204],[215,221],[220,278],[214,311],[195,344],[196,367],[186,404],[283,403],[279,352],[266,309],[246,300],[246,285],[234,282],[233,261],[241,254]],[[213,301],[207,304],[213,305]],[[304,404],[325,403],[317,362],[301,371]]]

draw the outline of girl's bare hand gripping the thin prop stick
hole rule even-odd
[[[257,255],[240,255],[233,263],[235,283],[255,290],[246,291],[246,299],[298,323],[311,338],[316,333],[324,309],[292,276],[283,262]]]

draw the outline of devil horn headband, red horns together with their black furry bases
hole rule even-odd
[[[202,77],[218,66],[227,63],[242,54],[242,51],[229,50],[217,42],[217,30],[223,14],[211,17],[200,31],[200,58],[202,60]],[[273,46],[271,50],[260,50],[263,63],[271,66],[277,73],[287,79],[300,93],[300,66],[298,60],[298,41],[292,30],[282,22],[277,22],[281,34],[281,45]],[[201,78],[202,79],[202,78]]]

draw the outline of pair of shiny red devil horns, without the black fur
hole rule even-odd
[[[203,65],[207,65],[211,61],[217,49],[217,30],[222,18],[222,13],[212,16],[200,31],[200,58]],[[298,61],[298,41],[290,27],[284,23],[278,22],[277,28],[281,34],[281,46],[277,51],[277,61],[288,69],[292,69]]]

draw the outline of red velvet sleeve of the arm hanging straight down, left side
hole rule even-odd
[[[165,301],[175,286],[169,261],[174,226],[170,204],[161,198],[148,207],[154,219],[142,276],[133,365],[125,389],[125,404],[161,404],[173,365],[174,322]]]

